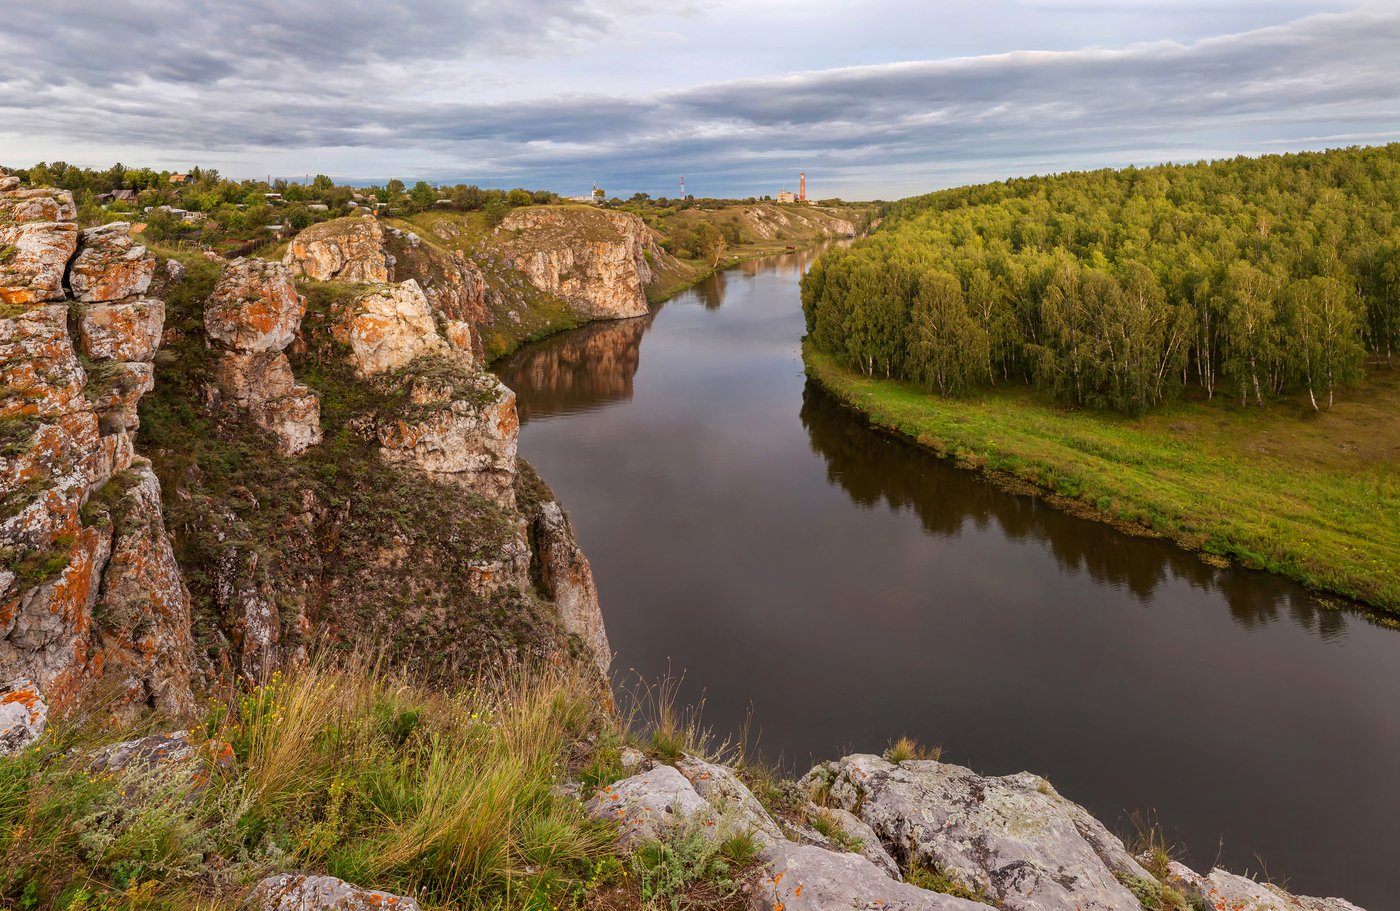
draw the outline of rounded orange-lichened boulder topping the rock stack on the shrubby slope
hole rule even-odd
[[[204,330],[230,351],[281,351],[297,337],[305,312],[286,266],[241,257],[218,273],[204,305]]]

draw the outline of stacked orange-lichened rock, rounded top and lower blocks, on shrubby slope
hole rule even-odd
[[[223,348],[213,371],[223,400],[276,437],[288,456],[321,442],[321,399],[297,383],[283,354],[305,312],[287,269],[260,259],[224,266],[204,306],[204,330]]]

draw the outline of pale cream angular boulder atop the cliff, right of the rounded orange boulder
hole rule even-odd
[[[452,354],[438,334],[427,297],[412,278],[360,297],[330,332],[350,346],[350,361],[361,376],[398,369],[420,357]]]

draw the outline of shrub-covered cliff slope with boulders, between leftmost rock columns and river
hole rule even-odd
[[[162,423],[153,455],[196,568],[200,676],[259,680],[318,640],[444,675],[606,649],[567,521],[540,537],[518,502],[515,396],[473,351],[472,269],[364,220],[318,227],[284,263],[221,264],[172,315],[155,410],[209,423]],[[371,280],[405,263],[423,278]]]

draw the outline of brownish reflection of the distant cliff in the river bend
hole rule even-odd
[[[549,414],[591,411],[631,399],[641,364],[641,336],[657,312],[591,323],[531,346],[498,371],[515,390],[521,421]]]

